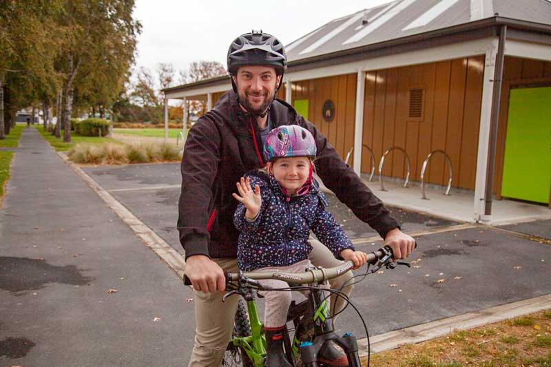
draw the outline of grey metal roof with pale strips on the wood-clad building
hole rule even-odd
[[[285,50],[292,63],[496,15],[551,24],[551,3],[546,0],[395,0],[330,21],[289,43]]]

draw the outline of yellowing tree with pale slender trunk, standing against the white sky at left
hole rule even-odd
[[[132,18],[134,0],[65,0],[58,22],[63,45],[57,63],[63,75],[63,141],[70,142],[70,118],[75,87],[85,96],[114,101],[134,62],[141,24]]]

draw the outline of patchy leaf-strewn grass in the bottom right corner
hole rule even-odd
[[[362,366],[367,365],[367,358]],[[551,311],[509,319],[371,356],[371,366],[551,366]]]

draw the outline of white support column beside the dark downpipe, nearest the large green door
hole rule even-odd
[[[492,118],[492,99],[494,95],[495,61],[499,40],[490,41],[484,59],[484,84],[482,87],[482,107],[477,153],[477,175],[475,181],[474,220],[489,224],[491,218],[484,216],[486,194],[486,171],[488,169],[488,151],[490,141],[490,124]]]

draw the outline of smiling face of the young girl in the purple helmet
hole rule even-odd
[[[294,194],[306,183],[310,174],[310,158],[278,158],[270,163],[269,172],[287,193]]]

